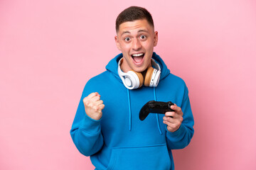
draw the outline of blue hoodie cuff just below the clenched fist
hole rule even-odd
[[[82,123],[80,124],[80,129],[85,130],[90,134],[98,134],[101,130],[100,122],[101,122],[101,119],[94,120],[85,113],[85,118],[84,120],[82,120]]]

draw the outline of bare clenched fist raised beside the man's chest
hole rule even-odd
[[[85,105],[85,113],[94,120],[100,120],[102,109],[105,107],[103,101],[100,100],[100,94],[97,92],[89,94],[82,101]]]

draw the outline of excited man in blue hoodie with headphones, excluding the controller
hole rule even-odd
[[[186,84],[154,52],[158,33],[145,8],[122,11],[116,30],[122,54],[85,85],[70,130],[73,142],[97,170],[174,169],[171,149],[186,147],[193,136]],[[142,106],[153,100],[176,103],[174,111],[139,120]]]

